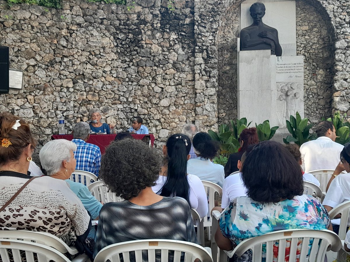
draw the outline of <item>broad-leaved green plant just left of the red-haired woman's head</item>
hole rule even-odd
[[[251,122],[250,122],[251,123]],[[230,154],[238,152],[239,135],[243,129],[247,128],[250,123],[247,124],[246,118],[236,119],[236,122],[230,120],[231,128],[229,125],[222,124],[219,126],[219,131],[208,131],[210,137],[220,142],[220,155],[228,158]]]

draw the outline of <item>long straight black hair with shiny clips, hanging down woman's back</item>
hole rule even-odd
[[[190,204],[190,187],[187,180],[187,156],[191,149],[190,139],[184,134],[174,134],[167,141],[167,180],[161,188],[161,196],[178,196]]]

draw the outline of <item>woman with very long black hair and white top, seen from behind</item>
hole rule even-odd
[[[163,166],[152,190],[161,196],[186,199],[200,217],[205,217],[208,213],[207,192],[198,176],[187,173],[190,148],[190,139],[184,134],[174,134],[168,138],[163,146]]]

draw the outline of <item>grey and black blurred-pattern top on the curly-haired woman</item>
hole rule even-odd
[[[111,244],[141,239],[197,243],[187,201],[181,197],[163,197],[149,206],[127,200],[104,204],[98,221],[94,257]]]

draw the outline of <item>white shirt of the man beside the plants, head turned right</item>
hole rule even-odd
[[[300,146],[305,172],[318,169],[335,169],[344,146],[329,137],[319,137]]]

